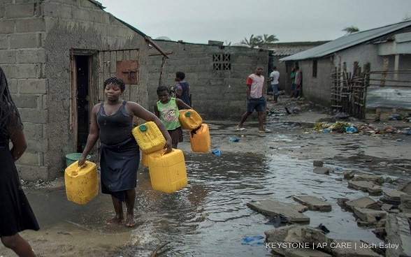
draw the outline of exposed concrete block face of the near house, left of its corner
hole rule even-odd
[[[37,1],[0,1],[0,66],[19,108],[29,147],[17,161],[23,179],[46,179],[48,139],[45,22]]]

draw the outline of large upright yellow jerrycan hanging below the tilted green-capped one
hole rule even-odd
[[[184,154],[180,149],[173,149],[168,154],[150,154],[148,171],[152,189],[156,191],[174,193],[188,184]]]

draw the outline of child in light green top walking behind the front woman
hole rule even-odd
[[[183,109],[192,109],[179,98],[170,97],[167,87],[159,86],[157,88],[159,101],[154,105],[154,113],[161,122],[164,123],[168,133],[171,136],[171,145],[177,148],[179,142],[182,142],[182,129],[178,116],[178,105]]]

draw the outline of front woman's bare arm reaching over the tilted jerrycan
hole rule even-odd
[[[161,133],[164,135],[164,138],[166,138],[166,145],[164,145],[164,148],[167,148],[166,154],[171,152],[171,136],[168,133],[166,126],[164,126],[163,122],[161,122],[161,120],[156,115],[154,115],[154,113],[149,112],[147,109],[143,108],[138,103],[127,102],[127,108],[129,108],[129,110],[133,112],[135,116],[144,119],[146,122],[154,122],[159,127]]]

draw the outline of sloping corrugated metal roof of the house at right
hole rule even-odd
[[[328,54],[333,54],[334,52],[338,52],[348,47],[359,45],[361,43],[371,41],[375,38],[380,38],[381,36],[393,33],[395,31],[398,31],[399,29],[403,29],[405,27],[410,27],[410,26],[411,26],[411,20],[408,20],[406,22],[391,24],[391,25],[387,25],[387,26],[380,27],[377,29],[359,31],[354,34],[342,36],[340,38],[337,38],[334,41],[325,43],[324,45],[312,47],[309,50],[298,52],[297,54],[293,54],[289,57],[284,57],[280,59],[280,61],[296,61],[296,60],[324,57]]]

